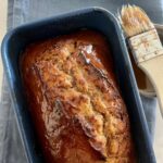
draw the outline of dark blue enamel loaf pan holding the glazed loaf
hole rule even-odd
[[[43,158],[35,137],[22,87],[20,55],[28,43],[68,34],[80,28],[95,29],[106,37],[113,55],[117,82],[129,113],[138,162],[155,163],[142,104],[121,27],[110,12],[99,8],[83,9],[24,25],[7,34],[3,39],[4,71],[28,162],[42,163]]]

